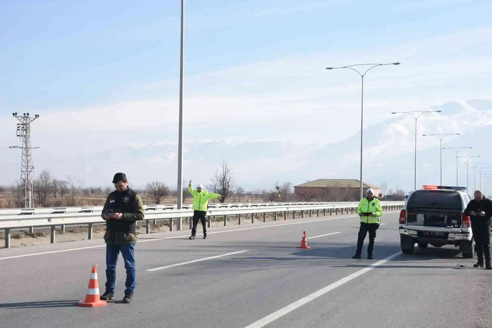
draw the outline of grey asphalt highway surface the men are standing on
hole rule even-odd
[[[383,222],[374,260],[351,258],[352,215],[213,228],[206,240],[187,239],[189,230],[142,235],[133,302],[121,303],[120,257],[116,300],[100,308],[76,302],[92,265],[104,291],[102,240],[3,249],[0,327],[492,327],[491,272],[450,246],[400,254],[398,214]],[[303,231],[307,250],[297,248]]]

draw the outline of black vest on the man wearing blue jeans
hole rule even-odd
[[[108,210],[112,213],[134,213],[138,209],[135,206],[137,193],[127,188],[123,192],[113,191],[108,195]],[[136,221],[109,219],[106,221],[106,230],[135,233]]]

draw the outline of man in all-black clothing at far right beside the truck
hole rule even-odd
[[[475,239],[475,249],[477,250],[477,264],[475,268],[484,267],[492,270],[491,266],[491,225],[492,225],[492,201],[485,198],[480,190],[475,190],[475,199],[472,199],[464,213],[470,216],[471,232]]]

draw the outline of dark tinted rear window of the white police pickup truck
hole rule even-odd
[[[462,209],[461,196],[455,191],[417,190],[408,199],[407,208]]]

